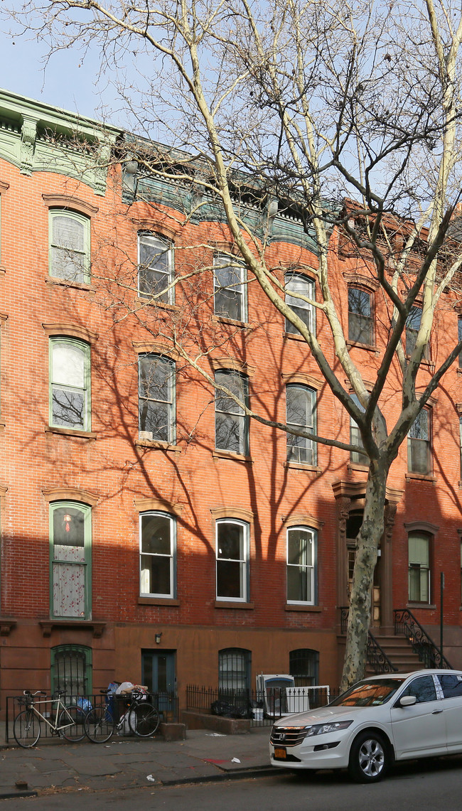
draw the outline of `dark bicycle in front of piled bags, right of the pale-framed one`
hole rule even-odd
[[[150,702],[144,701],[143,693],[139,690],[132,690],[130,704],[116,723],[113,717],[112,707],[109,706],[109,691],[100,690],[105,695],[104,706],[96,706],[89,710],[83,723],[85,734],[94,744],[104,744],[113,736],[114,731],[122,730],[128,721],[130,732],[140,738],[150,738],[159,727],[160,717],[156,707]]]

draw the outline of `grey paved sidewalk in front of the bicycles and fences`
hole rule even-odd
[[[5,743],[0,724],[0,799],[44,790],[101,791],[172,786],[274,774],[269,765],[271,727],[243,735],[190,730],[186,740],[142,740],[114,735],[107,744],[41,739],[32,749]]]

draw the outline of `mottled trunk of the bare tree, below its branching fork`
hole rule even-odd
[[[387,474],[388,466],[384,461],[370,463],[363,521],[357,535],[341,690],[361,679],[366,668],[370,603],[377,551],[383,535]]]

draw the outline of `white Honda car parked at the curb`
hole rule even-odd
[[[462,672],[420,670],[357,682],[331,704],[272,727],[272,766],[348,768],[372,783],[412,757],[462,753]]]

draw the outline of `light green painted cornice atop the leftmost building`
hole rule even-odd
[[[66,174],[104,195],[111,148],[121,135],[92,118],[0,89],[0,157],[21,174]]]

